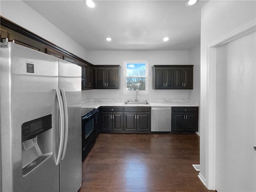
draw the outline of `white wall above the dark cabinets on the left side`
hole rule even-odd
[[[0,14],[38,36],[86,60],[86,50],[23,1],[0,1]]]

